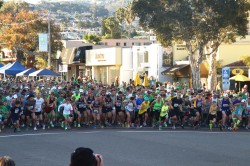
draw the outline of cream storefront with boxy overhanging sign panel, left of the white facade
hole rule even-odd
[[[86,70],[92,79],[111,84],[120,77],[122,48],[112,47],[86,51]]]

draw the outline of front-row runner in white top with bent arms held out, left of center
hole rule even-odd
[[[70,123],[72,122],[72,117],[70,117],[70,114],[73,111],[73,107],[70,103],[70,98],[67,98],[66,101],[63,102],[63,104],[61,104],[58,107],[58,111],[60,111],[61,107],[63,107],[63,117],[64,117],[64,124],[62,125],[62,127],[65,127],[65,130],[70,129]]]

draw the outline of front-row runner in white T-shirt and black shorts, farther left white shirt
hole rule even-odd
[[[44,107],[44,99],[41,98],[40,93],[36,95],[35,101],[36,101],[35,120],[37,121],[37,125],[39,125],[39,122],[40,124],[43,124],[43,130],[45,130],[45,124],[42,115],[42,110]],[[37,130],[36,126],[34,127],[34,130]]]

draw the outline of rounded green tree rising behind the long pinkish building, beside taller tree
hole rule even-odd
[[[115,17],[107,17],[102,20],[102,35],[110,34],[112,39],[121,38],[121,28]]]

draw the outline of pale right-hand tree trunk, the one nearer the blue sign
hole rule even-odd
[[[207,88],[209,90],[215,90],[217,85],[216,53],[209,55],[208,63],[209,63],[209,72],[208,72]]]

